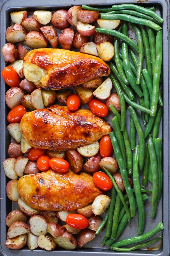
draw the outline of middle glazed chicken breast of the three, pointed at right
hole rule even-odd
[[[111,132],[111,126],[90,110],[73,112],[61,105],[25,113],[20,129],[34,148],[53,150],[76,149]]]

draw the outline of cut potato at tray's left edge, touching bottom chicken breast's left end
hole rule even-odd
[[[18,192],[18,179],[13,179],[13,180],[8,181],[8,183],[6,185],[6,193],[7,193],[7,197],[10,200],[12,200],[14,202],[18,201],[18,199],[20,198],[20,195]]]

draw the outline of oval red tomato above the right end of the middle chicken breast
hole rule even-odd
[[[108,115],[108,108],[105,103],[99,101],[99,100],[90,100],[89,103],[90,110],[98,116],[106,116]]]

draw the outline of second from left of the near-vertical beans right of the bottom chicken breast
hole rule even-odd
[[[121,203],[121,200],[119,195],[117,194],[115,208],[114,208],[114,215],[113,215],[113,223],[112,223],[112,234],[111,234],[112,239],[116,238],[116,232],[118,229],[118,218],[119,218],[119,212],[120,212],[120,203]]]

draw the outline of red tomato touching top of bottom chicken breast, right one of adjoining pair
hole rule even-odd
[[[54,157],[49,161],[49,166],[57,172],[67,172],[69,170],[69,163],[63,158]]]

